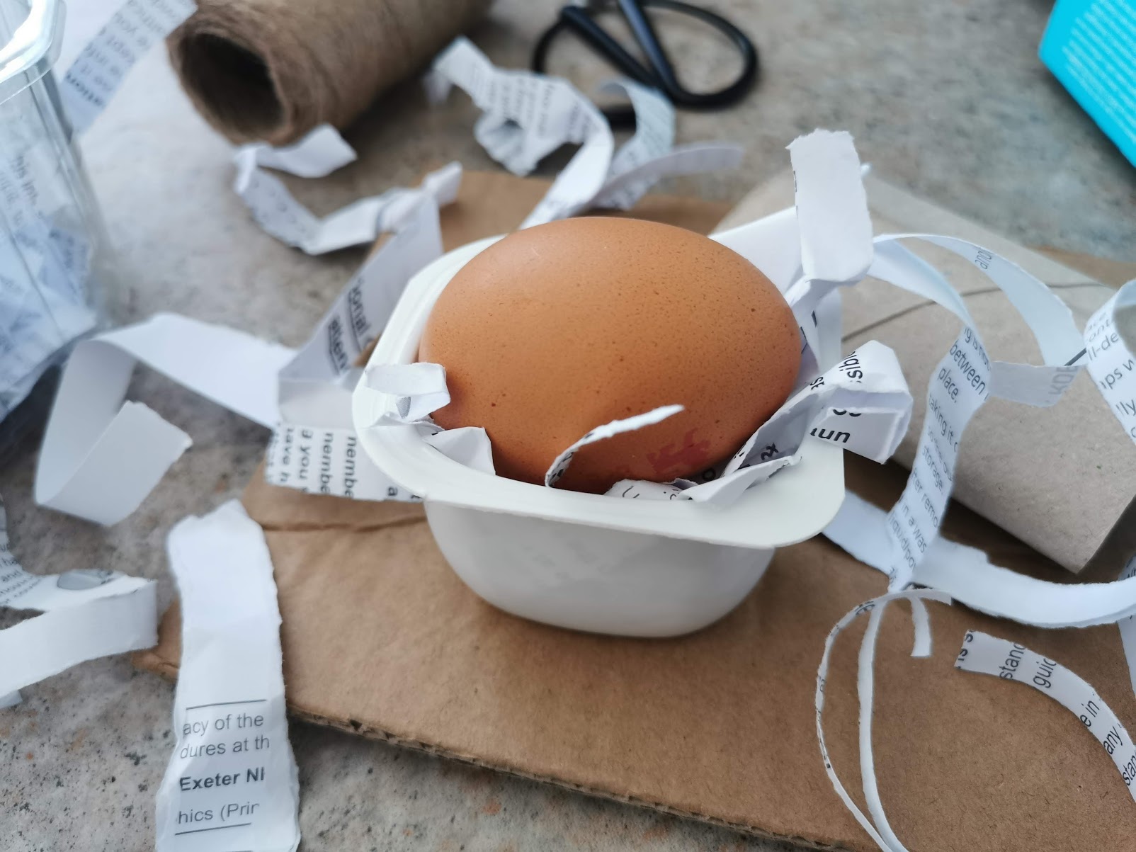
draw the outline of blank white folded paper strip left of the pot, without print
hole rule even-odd
[[[184,432],[145,406],[123,404],[139,361],[272,426],[279,419],[276,375],[292,354],[276,343],[173,314],[83,341],[64,368],[48,420],[36,502],[115,524],[139,507],[190,445]]]

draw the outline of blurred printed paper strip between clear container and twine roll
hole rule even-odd
[[[107,108],[131,67],[197,10],[193,0],[126,0],[118,8],[59,85],[64,111],[76,133]]]

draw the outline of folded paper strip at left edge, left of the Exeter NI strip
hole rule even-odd
[[[157,586],[99,569],[28,574],[11,554],[0,503],[0,607],[39,610],[0,630],[0,708],[19,690],[80,662],[150,648],[158,641]]]

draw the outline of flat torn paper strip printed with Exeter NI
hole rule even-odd
[[[264,532],[231,501],[169,533],[182,604],[177,742],[158,791],[158,852],[294,852],[276,584]]]

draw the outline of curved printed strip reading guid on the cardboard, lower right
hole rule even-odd
[[[1027,684],[1069,710],[1104,746],[1120,771],[1128,794],[1136,802],[1136,788],[1133,786],[1136,782],[1136,745],[1117,715],[1084,678],[1025,645],[978,630],[967,630],[954,665],[963,671]]]

